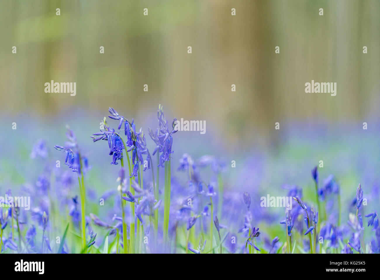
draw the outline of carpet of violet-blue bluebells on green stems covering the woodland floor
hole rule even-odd
[[[353,136],[326,150],[314,129],[312,148],[295,137],[272,152],[214,147],[211,155],[212,140],[180,138],[161,105],[147,130],[114,108],[108,115],[92,135],[20,125],[26,139],[8,135],[0,158],[14,162],[0,159],[1,253],[380,252],[378,145],[363,148]],[[323,150],[325,167],[310,150]],[[291,205],[262,207],[267,194]],[[30,209],[16,205],[21,196]]]

